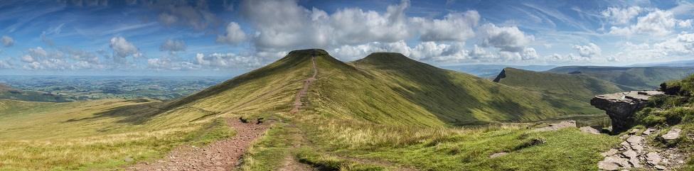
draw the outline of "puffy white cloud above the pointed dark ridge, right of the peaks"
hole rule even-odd
[[[497,27],[493,23],[486,23],[479,27],[480,45],[484,47],[499,48],[501,51],[518,53],[530,42],[535,40],[533,35],[525,35],[516,26]]]

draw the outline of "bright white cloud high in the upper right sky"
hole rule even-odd
[[[686,22],[686,21],[685,21]],[[678,20],[671,11],[661,11],[656,9],[640,16],[636,24],[626,27],[612,26],[609,33],[616,35],[632,35],[636,33],[646,33],[650,35],[668,35],[672,28],[676,26]],[[685,23],[683,23],[685,24]]]

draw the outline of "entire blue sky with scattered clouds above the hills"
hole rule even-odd
[[[694,60],[692,1],[0,1],[0,75],[215,75],[291,50],[436,66]]]

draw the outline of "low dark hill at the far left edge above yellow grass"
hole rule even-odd
[[[48,102],[65,102],[73,101],[66,96],[50,94],[47,92],[38,91],[23,91],[13,89],[5,84],[0,84],[0,99],[13,99],[21,101],[48,101]]]

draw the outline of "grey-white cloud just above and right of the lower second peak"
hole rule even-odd
[[[479,23],[477,11],[449,13],[443,19],[412,18],[420,27],[422,41],[460,41],[474,37],[473,28]]]

